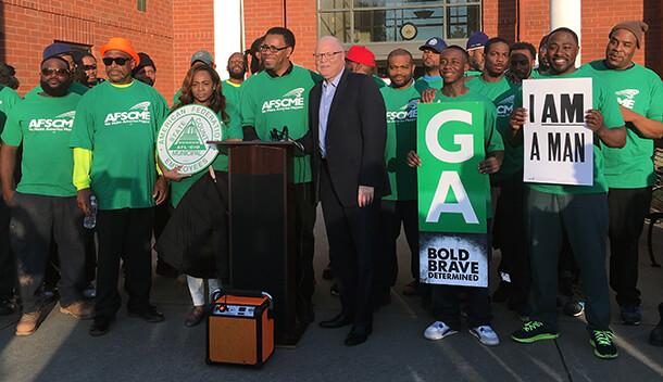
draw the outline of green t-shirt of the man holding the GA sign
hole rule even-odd
[[[459,97],[447,97],[441,91],[435,93],[433,102],[479,102],[484,104],[484,142],[486,155],[496,151],[504,150],[502,136],[496,132],[495,124],[497,118],[497,110],[491,100],[486,96],[480,94],[472,89]],[[478,171],[478,168],[476,169]],[[490,188],[486,190],[486,216],[492,217],[492,208],[490,208]]]

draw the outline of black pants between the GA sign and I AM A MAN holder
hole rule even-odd
[[[521,309],[527,305],[531,275],[525,235],[525,186],[523,174],[500,182],[493,234],[500,243],[502,258],[498,270],[509,276],[508,304]],[[501,275],[500,275],[501,276]]]

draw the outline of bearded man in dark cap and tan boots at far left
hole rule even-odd
[[[51,234],[60,257],[60,311],[89,319],[92,307],[83,302],[85,251],[83,214],[72,184],[70,136],[80,96],[71,92],[72,73],[60,56],[41,62],[41,92],[20,102],[2,131],[0,183],[11,209],[11,246],[17,257],[23,315],[16,335],[33,334],[46,316],[41,294]],[[18,147],[23,147],[22,178],[14,187]],[[48,165],[47,165],[48,164]]]

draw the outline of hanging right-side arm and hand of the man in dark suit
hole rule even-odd
[[[383,180],[385,145],[387,144],[387,110],[385,100],[371,77],[361,77],[359,110],[362,129],[362,168],[359,174],[360,207],[373,202],[375,187]]]

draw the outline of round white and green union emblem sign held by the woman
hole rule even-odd
[[[218,154],[221,122],[211,109],[186,105],[177,109],[163,123],[157,138],[159,158],[168,169],[182,167],[180,174],[196,174],[205,169]]]

